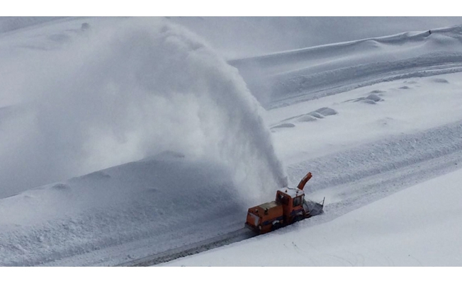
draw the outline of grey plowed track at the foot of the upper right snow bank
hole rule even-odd
[[[397,62],[362,64],[315,74],[294,71],[274,76],[272,100],[267,108],[279,108],[307,100],[332,96],[376,83],[462,71],[462,54],[434,53]],[[280,93],[283,93],[283,97]]]

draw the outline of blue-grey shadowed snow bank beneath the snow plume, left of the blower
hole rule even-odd
[[[0,199],[0,265],[53,265],[150,238],[145,252],[159,253],[240,229],[249,200],[230,176],[218,163],[143,160]]]

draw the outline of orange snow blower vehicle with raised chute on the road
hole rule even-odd
[[[303,188],[312,177],[311,172],[300,180],[296,188],[286,187],[276,192],[276,200],[250,207],[244,226],[259,233],[268,233],[297,221],[322,214],[324,201],[305,200]]]

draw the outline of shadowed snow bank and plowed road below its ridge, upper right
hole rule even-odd
[[[266,108],[276,108],[381,81],[460,71],[461,29],[373,37],[237,59],[231,64],[240,69],[252,92],[265,90],[257,97]],[[373,104],[373,100],[363,102]]]

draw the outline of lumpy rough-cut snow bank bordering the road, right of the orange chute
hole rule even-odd
[[[353,149],[320,156],[289,166],[288,175],[296,176],[307,169],[313,175],[308,190],[322,190],[371,175],[412,166],[462,151],[462,121],[434,127],[415,134],[399,134]]]

